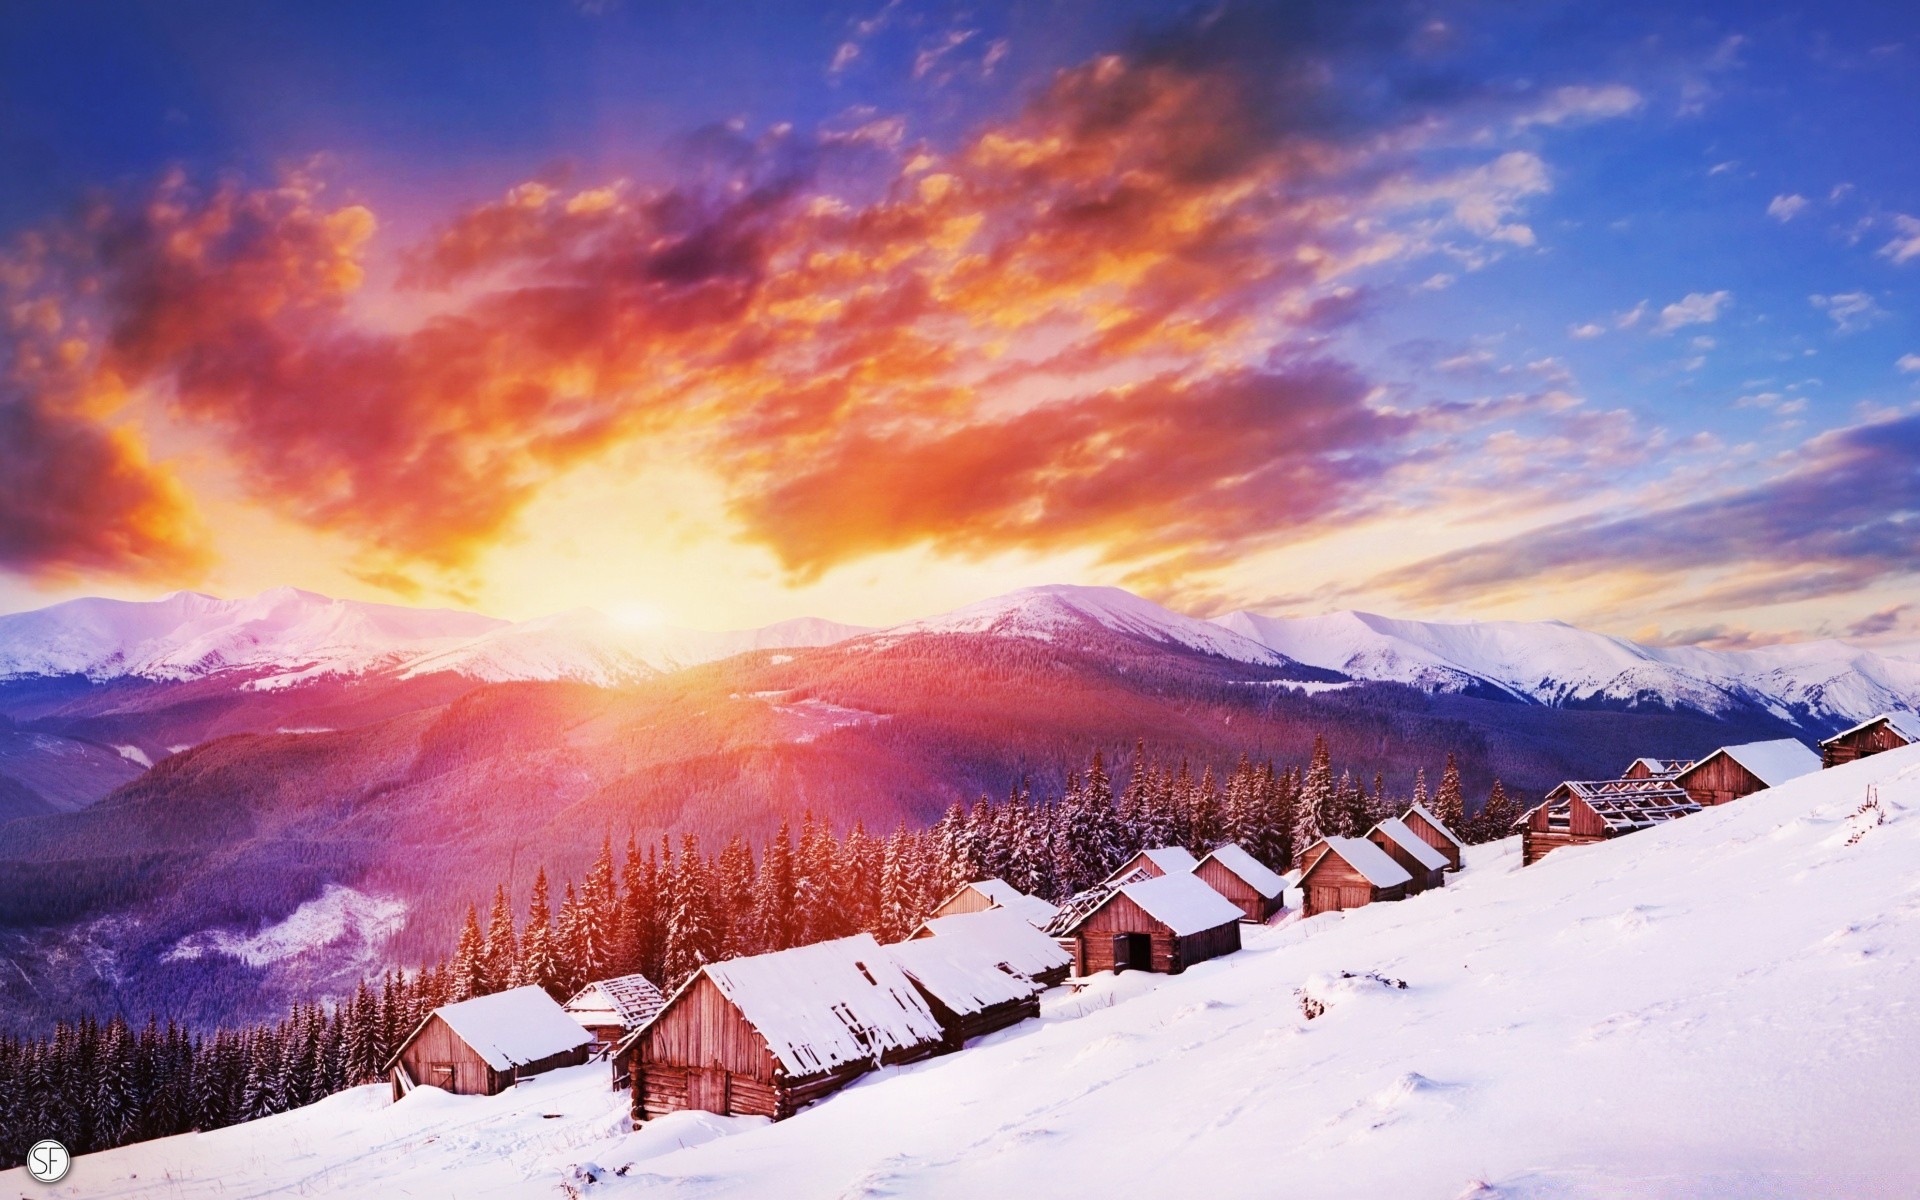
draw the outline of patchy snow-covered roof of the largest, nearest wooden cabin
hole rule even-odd
[[[933,1010],[872,933],[712,962],[701,975],[766,1039],[789,1075],[816,1075],[941,1039]]]

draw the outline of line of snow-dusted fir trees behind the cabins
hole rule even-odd
[[[1359,835],[1421,803],[1467,841],[1505,837],[1517,806],[1496,781],[1469,816],[1448,755],[1440,785],[1427,776],[1394,797],[1350,772],[1334,776],[1325,739],[1302,766],[1246,756],[1225,774],[1154,762],[1137,751],[1116,791],[1104,755],[1073,772],[1060,795],[1027,783],[1006,797],[954,803],[929,828],[876,837],[854,824],[837,835],[803,816],[760,852],[732,837],[718,852],[685,833],[622,852],[609,837],[586,877],[559,897],[545,868],[524,916],[507,883],[486,920],[470,906],[438,962],[363,977],[351,995],[300,1004],[276,1023],[211,1035],[123,1018],[61,1023],[44,1039],[0,1039],[0,1167],[56,1137],[75,1154],[219,1129],[376,1083],[386,1062],[434,1008],[536,985],[557,1000],[593,979],[643,973],[672,993],[703,964],[868,931],[899,941],[970,879],[1000,877],[1046,900],[1098,883],[1146,847],[1204,854],[1240,843],[1277,872],[1323,835]]]

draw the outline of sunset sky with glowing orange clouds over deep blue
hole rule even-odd
[[[0,609],[1920,632],[1903,4],[0,10]]]

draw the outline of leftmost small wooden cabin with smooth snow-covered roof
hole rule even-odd
[[[495,1096],[520,1079],[588,1060],[593,1035],[538,987],[515,987],[426,1014],[386,1060],[399,1100],[417,1087]]]

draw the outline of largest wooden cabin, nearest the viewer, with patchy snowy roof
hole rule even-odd
[[[879,1066],[947,1039],[920,989],[870,933],[712,962],[622,1041],[634,1119],[699,1110],[791,1117]]]

